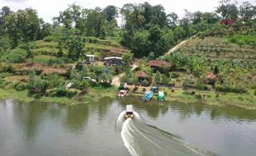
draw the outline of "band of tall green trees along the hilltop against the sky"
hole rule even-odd
[[[183,18],[174,12],[166,12],[161,5],[152,6],[148,2],[125,4],[118,8],[107,6],[87,9],[76,4],[70,5],[53,24],[45,23],[31,8],[11,11],[2,7],[0,11],[0,47],[4,51],[18,44],[39,39],[65,42],[73,35],[94,36],[100,39],[117,39],[130,48],[135,57],[159,57],[173,45],[194,34],[211,34],[214,30],[227,29],[220,26],[220,19],[235,21],[235,28],[254,25],[255,6],[243,2],[240,6],[230,0],[223,0],[216,11],[190,12],[185,10]],[[122,25],[117,25],[117,17]],[[211,30],[211,32],[207,32]]]

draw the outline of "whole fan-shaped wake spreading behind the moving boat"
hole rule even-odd
[[[116,127],[121,131],[126,149],[133,156],[216,155],[189,145],[178,136],[145,124],[136,112],[134,119],[125,119],[124,115],[125,112],[120,113]]]

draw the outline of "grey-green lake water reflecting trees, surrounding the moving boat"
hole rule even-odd
[[[138,115],[119,114],[133,104]],[[119,117],[118,117],[119,116]],[[256,155],[256,111],[140,98],[65,106],[0,101],[0,155]]]

